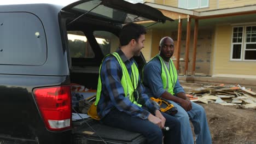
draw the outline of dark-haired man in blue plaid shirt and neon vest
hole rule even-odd
[[[178,119],[162,113],[159,106],[144,94],[137,64],[132,58],[139,56],[144,47],[146,29],[136,23],[125,25],[120,32],[120,49],[107,55],[101,64],[98,79],[97,113],[103,124],[141,133],[147,143],[181,143]]]

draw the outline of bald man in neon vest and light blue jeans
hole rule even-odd
[[[181,122],[182,143],[194,143],[189,119],[194,125],[196,144],[212,143],[205,110],[191,102],[179,83],[172,60],[174,43],[170,37],[160,40],[159,55],[156,55],[143,68],[143,84],[149,97],[164,98],[170,101],[178,112],[175,117]]]

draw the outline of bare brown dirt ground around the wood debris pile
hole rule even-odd
[[[185,92],[203,86],[199,83],[182,82],[181,84]],[[197,104],[205,108],[213,143],[256,143],[256,110],[237,109],[236,106],[214,103]]]

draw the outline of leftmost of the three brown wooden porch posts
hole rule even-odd
[[[177,38],[177,57],[176,57],[177,74],[179,74],[179,58],[181,57],[181,37],[182,37],[182,19],[181,19],[181,16],[179,16],[178,38]]]

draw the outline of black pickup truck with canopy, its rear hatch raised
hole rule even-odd
[[[0,5],[0,143],[143,143],[95,121],[72,124],[71,83],[97,88],[98,69],[125,23],[171,20],[141,3],[83,0]],[[136,58],[140,69],[143,56]],[[91,136],[89,136],[91,135]]]

